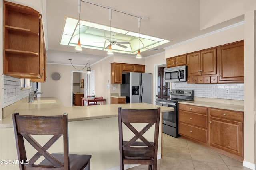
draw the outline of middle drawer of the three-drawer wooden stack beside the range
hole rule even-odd
[[[179,111],[179,121],[195,125],[202,128],[207,128],[207,116],[196,114],[196,113],[189,113],[185,111]]]

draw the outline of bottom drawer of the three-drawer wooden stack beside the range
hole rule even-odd
[[[207,143],[206,129],[200,129],[198,127],[186,125],[184,123],[179,123],[179,134],[193,138],[203,143]]]

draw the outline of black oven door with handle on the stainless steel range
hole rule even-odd
[[[162,101],[157,101],[157,105],[161,106],[167,106],[167,107],[172,107],[174,108],[174,111],[168,111],[168,112],[163,112],[163,124],[172,126],[172,127],[177,127],[177,104],[175,102],[162,102]]]

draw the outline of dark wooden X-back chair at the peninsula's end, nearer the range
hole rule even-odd
[[[149,170],[156,170],[159,120],[160,107],[156,109],[118,108],[120,170],[124,170],[124,164],[144,164],[148,165]],[[146,123],[146,126],[137,131],[134,123]],[[123,141],[124,137],[127,137],[123,133],[123,125],[135,134],[134,137],[129,138],[129,141]],[[148,139],[146,139],[143,135],[152,126],[154,127],[154,134],[152,134],[154,140],[148,141],[149,137],[147,136]]]

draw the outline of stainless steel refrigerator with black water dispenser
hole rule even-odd
[[[152,104],[152,74],[136,72],[122,74],[121,96],[126,96],[126,103]]]

